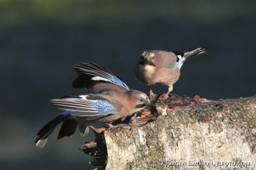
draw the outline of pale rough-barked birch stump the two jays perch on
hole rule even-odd
[[[167,115],[104,131],[105,169],[256,169],[256,97],[171,97],[157,112]]]

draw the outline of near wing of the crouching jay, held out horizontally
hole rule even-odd
[[[97,94],[66,96],[66,98],[53,99],[51,102],[61,106],[60,109],[74,111],[70,113],[74,116],[106,116],[118,112],[114,106]]]

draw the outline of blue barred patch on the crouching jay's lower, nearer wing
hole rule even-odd
[[[114,114],[117,113],[117,110],[115,107],[111,106],[109,102],[104,100],[97,100],[94,103],[94,108],[96,111],[100,114],[107,115],[107,114]]]

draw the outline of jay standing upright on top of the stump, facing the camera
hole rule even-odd
[[[173,90],[173,84],[178,81],[183,63],[206,51],[206,48],[191,48],[182,53],[146,50],[136,63],[135,77],[139,82],[151,85],[150,97],[154,94],[153,86],[168,86],[168,92],[159,97],[160,100],[164,100]]]

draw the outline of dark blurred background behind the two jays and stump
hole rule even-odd
[[[256,1],[0,0],[1,169],[93,169],[78,148],[92,131],[45,147],[37,132],[62,113],[48,102],[73,89],[73,64],[95,62],[131,89],[148,93],[134,77],[145,49],[209,48],[185,62],[172,93],[207,99],[256,94]],[[165,93],[168,87],[155,87]],[[98,125],[102,126],[102,124]]]

